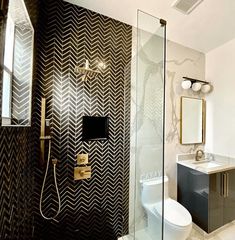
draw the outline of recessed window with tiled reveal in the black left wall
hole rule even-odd
[[[2,75],[2,126],[30,126],[34,29],[23,0],[9,0]]]

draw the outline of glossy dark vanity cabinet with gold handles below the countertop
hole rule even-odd
[[[235,220],[235,170],[206,174],[177,164],[177,194],[208,233]]]

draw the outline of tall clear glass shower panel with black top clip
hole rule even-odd
[[[163,239],[165,28],[164,21],[138,11],[136,86],[133,86],[136,240]]]

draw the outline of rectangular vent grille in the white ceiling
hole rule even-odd
[[[189,14],[191,13],[203,0],[176,0],[172,7],[176,10]]]

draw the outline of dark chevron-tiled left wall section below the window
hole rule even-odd
[[[0,239],[31,239],[33,176],[30,131],[0,129]]]

